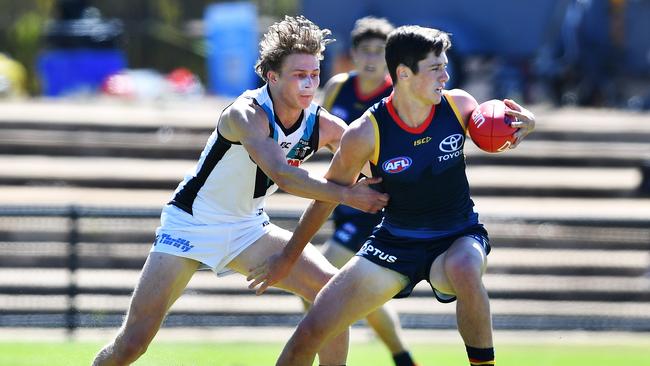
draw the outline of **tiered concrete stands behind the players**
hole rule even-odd
[[[0,327],[114,327],[160,207],[228,101],[0,105]],[[496,329],[650,331],[650,120],[533,108],[538,128],[504,154],[466,145],[494,248],[485,276]],[[324,172],[328,153],[306,167]],[[308,200],[268,212],[292,229]],[[328,223],[314,238],[323,243]],[[406,328],[455,328],[426,284],[393,300]],[[256,297],[240,275],[201,271],[166,326],[290,326],[294,296]]]

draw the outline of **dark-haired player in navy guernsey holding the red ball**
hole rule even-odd
[[[492,320],[482,276],[488,234],[474,211],[462,153],[478,103],[449,80],[445,32],[399,27],[386,41],[394,92],[346,130],[326,178],[354,182],[366,163],[390,195],[384,218],[356,256],[320,291],[285,345],[277,365],[311,365],[325,342],[393,297],[426,280],[438,301],[456,302],[457,325],[471,365],[493,365]],[[519,142],[534,115],[504,101]],[[262,293],[290,271],[309,239],[334,209],[314,201],[282,253],[252,270]]]

